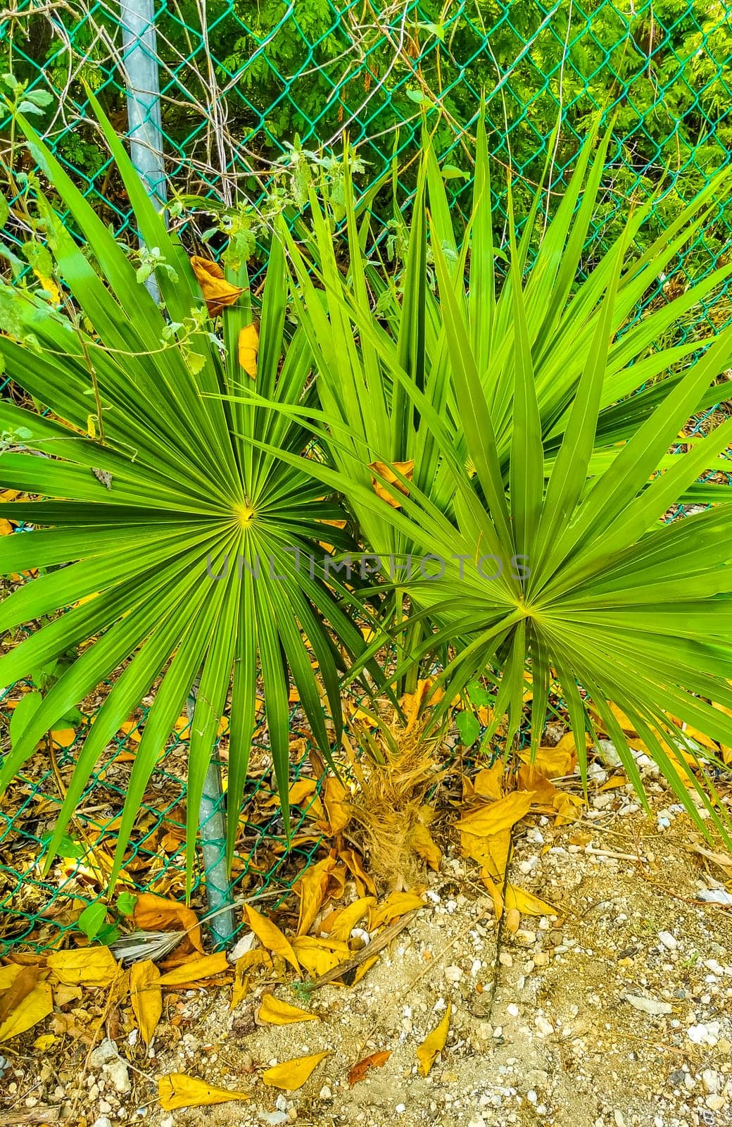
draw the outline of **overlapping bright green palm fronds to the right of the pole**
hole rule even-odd
[[[619,709],[679,800],[696,816],[689,783],[722,825],[672,718],[732,744],[729,487],[707,488],[706,499],[720,504],[706,512],[662,518],[695,496],[704,471],[724,464],[732,420],[688,452],[675,450],[689,417],[721,398],[715,381],[732,360],[732,329],[655,346],[732,265],[644,318],[632,314],[730,176],[714,178],[643,254],[634,237],[653,202],[636,208],[623,238],[581,277],[606,149],[607,139],[588,139],[538,239],[541,193],[520,239],[509,214],[508,247],[498,248],[509,265],[499,279],[484,132],[462,245],[428,148],[401,292],[387,283],[377,310],[385,287],[369,292],[352,199],[343,275],[312,195],[318,261],[288,246],[319,370],[322,411],[312,417],[330,467],[318,472],[342,491],[365,547],[384,561],[383,588],[411,609],[396,675],[448,650],[436,721],[456,693],[498,671],[488,737],[507,716],[510,743],[528,666],[534,751],[552,689],[566,702],[582,772],[586,731],[599,716],[642,795]],[[394,551],[414,558],[390,583]],[[431,577],[419,553],[434,558]]]

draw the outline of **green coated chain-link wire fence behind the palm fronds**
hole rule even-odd
[[[501,169],[510,168],[519,197],[545,176],[551,207],[589,121],[600,112],[613,122],[609,175],[587,248],[591,257],[595,242],[624,224],[634,198],[658,194],[649,230],[663,229],[680,202],[727,161],[732,145],[732,5],[724,2],[162,0],[155,3],[154,21],[175,222],[202,211],[200,198],[194,205],[190,197],[231,210],[244,197],[256,205],[268,184],[275,184],[282,207],[297,204],[302,162],[320,161],[327,171],[336,170],[329,161],[346,136],[364,161],[364,184],[395,161],[401,206],[412,184],[422,121],[435,135],[457,215],[471,188],[474,125],[484,97],[499,203],[506,183]],[[92,89],[125,132],[128,76],[122,54],[116,5],[15,0],[0,9],[0,74],[12,73],[53,95],[36,123],[104,219],[122,237],[127,231],[132,237],[128,202],[90,121],[86,95]],[[9,142],[8,123],[0,122],[6,153]],[[16,174],[29,167],[16,163]],[[376,210],[384,246],[393,252],[399,208],[395,214],[391,190]],[[10,243],[18,234],[12,224],[11,213],[6,231]],[[215,252],[221,234],[205,228],[190,222],[191,245],[211,239]],[[712,216],[675,270],[659,277],[646,303],[662,301],[688,275],[705,274],[723,260],[731,231],[732,212]],[[705,316],[715,327],[727,320],[725,292],[715,293]],[[682,331],[697,328],[690,321]],[[2,390],[1,378],[0,393],[12,393]],[[12,695],[14,690],[5,691],[6,706]],[[144,722],[144,713],[139,720]],[[117,753],[124,753],[131,738],[120,737],[119,748],[110,751],[110,765],[89,786],[70,857],[56,859],[47,878],[41,877],[36,861],[79,740],[59,747],[53,757],[39,753],[29,765],[35,773],[27,773],[3,799],[2,943],[55,942],[79,904],[98,894],[101,879],[93,867],[104,863],[114,843],[125,786],[125,756]],[[125,868],[136,887],[171,895],[182,889],[182,746],[185,733],[159,766]],[[266,773],[257,787],[267,790]],[[258,801],[260,813],[266,810],[261,793]],[[244,834],[238,887],[289,879],[289,862],[287,872],[280,872],[285,854],[277,844],[276,820],[273,807],[269,822],[258,817]],[[304,838],[306,860],[318,834]]]

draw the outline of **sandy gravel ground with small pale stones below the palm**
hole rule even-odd
[[[581,822],[516,827],[510,879],[555,912],[523,916],[512,934],[497,937],[492,902],[455,846],[425,909],[365,978],[312,994],[320,1022],[260,1027],[256,995],[230,1013],[227,990],[188,991],[168,1000],[150,1056],[120,1028],[120,1058],[102,1045],[41,1082],[12,1062],[6,1097],[19,1113],[51,1104],[61,1121],[75,1093],[81,1127],[732,1124],[732,916],[703,899],[724,899],[732,861],[650,787],[653,818],[621,787],[598,792]],[[276,993],[303,1004],[291,987]],[[416,1049],[448,1003],[447,1045],[425,1077]],[[323,1050],[296,1092],[258,1080]],[[378,1050],[391,1053],[383,1067],[349,1085],[352,1065]],[[155,1084],[168,1072],[252,1099],[164,1112]]]

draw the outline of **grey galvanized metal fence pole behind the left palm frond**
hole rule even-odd
[[[153,0],[120,0],[120,15],[122,61],[127,81],[130,156],[151,198],[164,208],[168,194],[162,159],[159,60]],[[148,278],[145,284],[155,301],[159,301],[160,293],[155,278]],[[196,687],[191,690],[188,700],[191,724]],[[206,773],[198,826],[206,873],[208,912],[216,913],[211,920],[209,928],[216,946],[225,947],[234,938],[234,912],[231,906],[231,885],[226,872],[226,826],[221,770],[215,757]]]

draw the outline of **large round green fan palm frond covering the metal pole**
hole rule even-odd
[[[60,811],[50,845],[53,858],[95,764],[157,685],[127,788],[118,869],[145,784],[195,690],[188,763],[190,873],[196,813],[229,696],[231,857],[258,691],[264,692],[286,817],[289,677],[329,755],[341,725],[341,654],[360,651],[363,637],[346,613],[346,588],[333,580],[327,586],[322,567],[300,564],[298,552],[304,559],[322,559],[323,539],[343,545],[338,529],[323,523],[342,514],[323,499],[306,463],[294,468],[277,454],[301,452],[309,433],[282,411],[220,398],[240,391],[255,373],[262,394],[279,406],[301,405],[312,396],[305,335],[286,331],[283,251],[275,242],[255,369],[257,334],[246,269],[224,278],[213,264],[198,264],[199,274],[208,270],[217,287],[209,309],[222,310],[230,302],[223,308],[220,346],[187,255],[166,230],[96,108],[157,267],[161,303],[20,117],[75,237],[38,189],[32,220],[44,225],[66,294],[64,308],[48,300],[51,279],[44,279],[41,292],[25,284],[3,285],[0,292],[5,308],[12,310],[0,335],[0,357],[7,373],[47,409],[36,414],[0,402],[0,428],[16,435],[15,449],[2,455],[3,483],[41,498],[2,505],[3,516],[24,521],[32,531],[2,538],[1,569],[45,573],[2,604],[3,630],[45,622],[0,657],[0,682],[25,677],[70,648],[75,658],[7,755],[0,787],[70,706],[111,678]],[[269,451],[253,445],[253,436],[267,442]],[[330,734],[324,704],[333,721]]]

